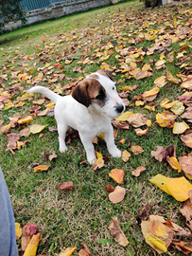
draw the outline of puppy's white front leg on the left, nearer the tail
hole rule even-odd
[[[79,133],[79,137],[86,151],[87,161],[90,164],[94,164],[96,162],[96,154],[95,154],[94,145],[92,144],[92,137],[89,137],[87,135],[82,135],[80,133]]]

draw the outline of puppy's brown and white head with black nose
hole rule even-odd
[[[108,70],[98,70],[79,82],[72,97],[111,119],[118,117],[125,110],[125,105],[116,92],[113,76]]]

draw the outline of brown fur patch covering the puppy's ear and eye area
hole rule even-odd
[[[102,99],[99,99],[99,95],[102,96]],[[79,82],[72,93],[72,97],[86,107],[88,107],[92,101],[96,102],[98,105],[102,105],[102,101],[104,101],[105,96],[105,89],[100,82],[89,78]],[[98,97],[98,99],[96,99],[96,97]]]

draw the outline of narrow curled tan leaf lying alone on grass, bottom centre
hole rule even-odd
[[[113,238],[114,238],[115,242],[118,243],[122,247],[127,247],[128,244],[129,244],[129,241],[126,238],[123,231],[120,229],[117,217],[114,216],[114,217],[111,217],[111,218],[112,218],[112,222],[110,224],[109,229],[111,231],[111,234],[113,235]]]

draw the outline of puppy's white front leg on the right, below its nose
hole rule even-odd
[[[110,124],[108,129],[105,132],[103,132],[103,135],[104,135],[109,153],[113,157],[120,157],[121,151],[114,144],[112,124]]]

